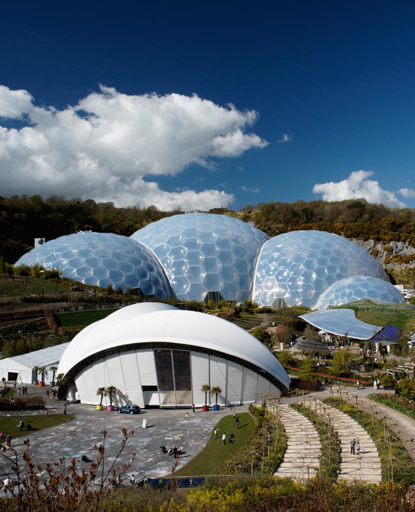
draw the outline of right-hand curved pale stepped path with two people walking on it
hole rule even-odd
[[[342,462],[339,478],[379,483],[382,480],[381,461],[372,438],[357,421],[347,414],[327,404],[323,407],[341,443]],[[350,454],[350,441],[354,438],[360,441],[360,455]]]

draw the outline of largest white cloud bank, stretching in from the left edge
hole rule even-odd
[[[160,209],[227,206],[232,194],[162,190],[157,176],[175,176],[190,164],[215,168],[217,159],[267,145],[245,133],[257,112],[196,95],[127,95],[100,86],[57,110],[36,106],[28,91],[0,86],[0,116],[27,124],[0,126],[4,196],[56,194]]]

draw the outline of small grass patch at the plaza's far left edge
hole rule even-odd
[[[68,423],[68,421],[75,419],[75,416],[71,414],[55,414],[51,416],[45,416],[44,413],[42,413],[38,416],[26,416],[25,411],[16,411],[15,414],[17,415],[12,417],[9,416],[7,418],[0,418],[0,431],[3,431],[3,436],[0,441],[1,443],[6,442],[6,436],[8,434],[11,435],[12,439],[16,437],[27,438],[31,432],[26,428],[28,423],[32,425],[33,431],[37,431],[50,429],[54,426],[61,425],[62,423]],[[27,418],[27,420],[25,418]],[[17,425],[20,419],[23,419],[25,423],[25,428],[23,431],[20,431]]]

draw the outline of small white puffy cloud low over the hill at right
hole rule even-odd
[[[362,198],[368,203],[384,204],[392,208],[405,207],[405,203],[399,201],[395,193],[383,190],[378,181],[368,179],[373,174],[371,170],[356,170],[345,180],[314,185],[313,193],[321,194],[323,201]]]

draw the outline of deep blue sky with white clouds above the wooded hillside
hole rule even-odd
[[[0,194],[415,207],[411,2],[2,6]]]

